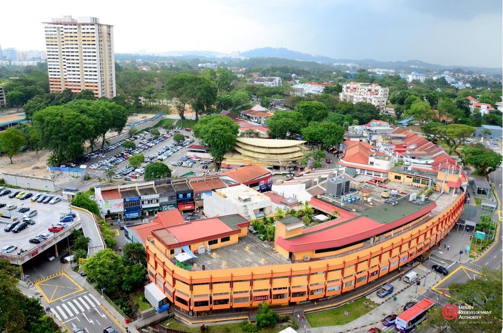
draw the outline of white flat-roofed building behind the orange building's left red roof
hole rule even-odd
[[[252,220],[273,212],[269,197],[243,184],[214,190],[211,196],[204,196],[203,206],[208,217],[240,214]]]

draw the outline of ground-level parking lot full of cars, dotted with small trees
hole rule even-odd
[[[127,166],[129,165],[128,156],[132,156],[135,153],[142,153],[145,156],[142,168],[144,168],[148,162],[160,160],[170,166],[173,176],[182,176],[190,171],[203,171],[203,166],[206,165],[205,163],[208,163],[208,161],[192,159],[192,163],[190,161],[185,161],[187,163],[182,165],[184,161],[180,161],[180,158],[186,155],[186,148],[191,144],[197,144],[198,142],[193,138],[188,138],[186,139],[187,143],[185,145],[183,142],[180,145],[176,145],[173,140],[173,135],[177,131],[185,136],[192,135],[184,129],[173,130],[169,133],[160,129],[160,132],[163,135],[159,137],[153,137],[150,133],[143,131],[131,138],[136,145],[135,149],[125,149],[122,146],[124,140],[121,140],[117,142],[117,144],[112,145],[110,148],[106,148],[108,151],[96,152],[96,157],[85,160],[91,156],[88,154],[88,157],[82,160],[74,161],[72,165],[86,165],[89,176],[105,178],[106,168],[116,168],[116,174],[119,174],[121,171],[125,171],[125,169],[127,169]],[[149,156],[152,158],[148,158]],[[175,161],[180,161],[180,163],[178,163],[180,165],[175,165]],[[118,175],[120,177],[115,177],[115,180],[124,180],[123,177],[129,177],[131,181],[143,180],[141,172],[136,175],[131,175],[131,173],[134,173],[134,170],[129,170],[127,173],[123,172],[121,175]],[[129,181],[129,179],[126,178],[125,180]]]

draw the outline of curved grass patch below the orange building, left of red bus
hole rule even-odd
[[[364,304],[365,301],[369,304]],[[370,307],[370,304],[374,307]],[[370,312],[375,306],[374,302],[364,297],[337,309],[308,314],[306,317],[313,327],[344,325]],[[345,311],[348,311],[348,315],[344,314]]]

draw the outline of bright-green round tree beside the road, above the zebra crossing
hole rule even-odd
[[[106,288],[113,293],[122,285],[124,265],[121,257],[111,248],[102,249],[91,256],[83,264],[82,270],[98,288]]]

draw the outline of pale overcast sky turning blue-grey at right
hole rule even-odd
[[[5,1],[0,45],[44,50],[41,22],[94,16],[115,51],[276,47],[332,58],[501,67],[501,0]]]

